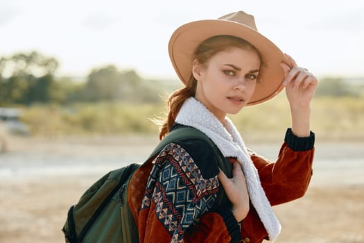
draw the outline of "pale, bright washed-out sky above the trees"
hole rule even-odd
[[[364,76],[364,1],[0,0],[0,57],[38,51],[60,76],[115,65],[177,78],[168,41],[182,24],[243,10],[260,33],[316,76]]]

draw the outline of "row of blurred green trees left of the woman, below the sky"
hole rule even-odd
[[[86,83],[78,83],[65,78],[55,80],[57,67],[55,58],[35,51],[1,58],[0,105],[116,100],[156,103],[159,94],[164,94],[164,87],[157,81],[145,81],[131,69],[121,72],[114,65],[95,68]]]

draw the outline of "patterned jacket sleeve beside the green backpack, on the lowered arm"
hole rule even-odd
[[[208,212],[218,192],[218,167],[214,161],[205,164],[209,156],[197,153],[213,154],[207,147],[188,153],[179,144],[168,144],[155,159],[138,216],[140,242],[239,239],[239,224],[231,210]],[[191,155],[202,160],[196,162]]]

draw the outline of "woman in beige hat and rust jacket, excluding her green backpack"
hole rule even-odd
[[[310,101],[317,78],[259,34],[245,12],[177,28],[169,53],[185,87],[171,95],[159,137],[178,126],[197,128],[232,163],[232,178],[218,169],[206,142],[165,146],[128,187],[140,242],[275,240],[281,226],[271,206],[303,196],[311,178]],[[246,149],[226,115],[284,87],[292,126],[273,163]],[[215,205],[220,184],[229,203]]]

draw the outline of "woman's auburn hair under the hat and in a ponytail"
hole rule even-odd
[[[216,55],[216,53],[227,51],[232,47],[256,51],[262,62],[261,54],[252,44],[232,35],[216,35],[209,37],[209,39],[205,40],[198,46],[193,56],[193,60],[197,60],[201,65],[207,65],[207,62],[212,56]],[[184,87],[173,92],[173,94],[171,94],[168,98],[168,115],[165,121],[159,123],[161,124],[159,128],[160,140],[162,140],[162,138],[171,131],[171,128],[175,123],[175,117],[177,117],[184,101],[186,101],[189,97],[194,97],[196,94],[197,81],[192,75],[192,69],[191,77],[184,85]]]

